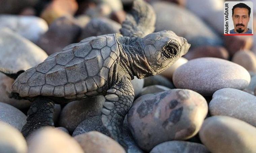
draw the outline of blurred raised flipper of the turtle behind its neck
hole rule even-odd
[[[134,0],[132,10],[122,23],[120,32],[127,37],[145,37],[154,32],[156,14],[154,9],[143,0]]]

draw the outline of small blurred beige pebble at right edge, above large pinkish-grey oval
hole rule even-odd
[[[243,66],[248,71],[256,72],[256,55],[250,50],[241,50],[234,54],[232,62]]]

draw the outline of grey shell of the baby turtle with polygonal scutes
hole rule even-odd
[[[89,37],[20,74],[12,92],[21,97],[82,98],[105,85],[109,69],[118,57],[116,34]]]

